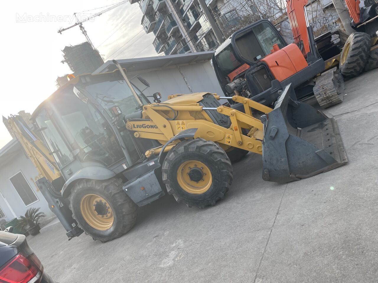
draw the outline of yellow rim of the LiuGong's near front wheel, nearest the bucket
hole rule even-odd
[[[212,184],[212,175],[208,166],[198,160],[188,160],[178,167],[178,185],[190,194],[203,194]]]

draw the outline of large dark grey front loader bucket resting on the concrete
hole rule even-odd
[[[287,85],[274,110],[261,117],[265,181],[308,178],[348,161],[335,118],[292,100],[293,94],[293,86]]]

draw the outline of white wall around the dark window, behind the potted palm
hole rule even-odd
[[[9,180],[10,177],[12,177],[19,171],[23,173],[26,181],[29,183],[31,189],[34,191],[38,198],[38,201],[27,207],[25,206],[21,197]],[[15,155],[15,157],[11,161],[0,168],[0,190],[2,192],[2,194],[0,194],[0,206],[5,212],[7,216],[6,219],[8,221],[13,219],[14,215],[8,208],[8,205],[6,205],[4,198],[6,199],[6,201],[8,201],[11,209],[14,211],[17,217],[20,217],[20,215],[25,215],[26,210],[30,207],[40,207],[40,211],[45,212],[46,217],[42,220],[46,220],[47,218],[54,216],[54,214],[48,208],[48,203],[43,197],[42,193],[31,180],[31,178],[34,179],[35,177],[37,177],[37,175],[37,169],[29,159],[26,159],[21,149],[19,151],[19,154]]]

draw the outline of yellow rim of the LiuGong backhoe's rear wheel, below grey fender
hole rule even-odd
[[[84,220],[97,230],[105,231],[113,225],[114,216],[112,208],[99,195],[84,195],[80,201],[80,211]]]

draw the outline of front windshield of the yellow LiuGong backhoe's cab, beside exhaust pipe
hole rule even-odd
[[[93,83],[84,88],[101,104],[110,116],[112,116],[113,112],[111,109],[114,106],[118,106],[124,115],[130,114],[135,112],[136,109],[139,109],[138,102],[124,80]],[[136,94],[139,95],[139,98],[141,98],[142,103],[148,104],[149,102],[144,95],[142,95],[137,88],[134,87],[134,89]]]

